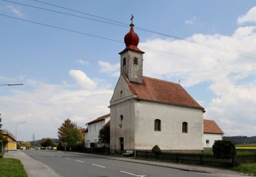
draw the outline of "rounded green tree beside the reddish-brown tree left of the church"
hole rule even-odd
[[[64,142],[68,144],[70,147],[77,146],[79,144],[82,144],[83,142],[83,134],[79,130],[79,127],[70,127],[68,131],[66,131],[66,137],[64,139]]]

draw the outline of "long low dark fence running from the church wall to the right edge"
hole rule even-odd
[[[155,155],[150,151],[136,151],[137,157],[162,159],[167,161],[173,161],[175,163],[200,163],[211,165],[238,165],[240,163],[255,163],[256,154],[250,155],[236,155],[235,157],[223,157],[216,158],[214,155],[208,155],[203,153],[174,153],[174,152],[162,152],[159,155]]]

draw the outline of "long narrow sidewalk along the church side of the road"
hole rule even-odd
[[[61,151],[63,152],[63,151]],[[145,160],[138,160],[138,159],[130,159],[127,157],[115,157],[111,155],[93,155],[93,154],[87,154],[87,153],[81,153],[81,152],[66,152],[66,153],[72,153],[76,155],[87,155],[91,157],[99,157],[104,159],[112,159],[116,161],[128,161],[132,163],[141,163],[145,165],[154,165],[158,167],[169,167],[177,170],[184,170],[188,172],[200,172],[200,173],[207,173],[207,174],[214,174],[214,176],[247,176],[246,174],[242,174],[240,172],[235,172],[232,170],[225,170],[225,169],[219,169],[214,167],[203,167],[203,166],[197,166],[197,165],[185,165],[185,164],[178,164],[178,163],[165,163],[165,162],[158,162],[158,161],[145,161]]]

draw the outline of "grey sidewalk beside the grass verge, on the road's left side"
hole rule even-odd
[[[17,151],[9,151],[5,152],[3,155],[3,158],[14,158],[19,159],[21,163],[23,164],[25,171],[27,172],[28,176],[40,176],[40,177],[57,177],[58,174],[55,173],[51,167],[48,167],[47,165],[44,165],[40,161],[36,161],[35,159],[32,159],[28,155],[26,155],[21,150]]]

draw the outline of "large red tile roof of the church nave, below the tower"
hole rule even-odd
[[[137,95],[137,99],[169,103],[177,106],[187,106],[192,108],[204,108],[193,99],[180,85],[165,80],[148,78],[143,76],[143,83],[128,82],[130,91]]]

